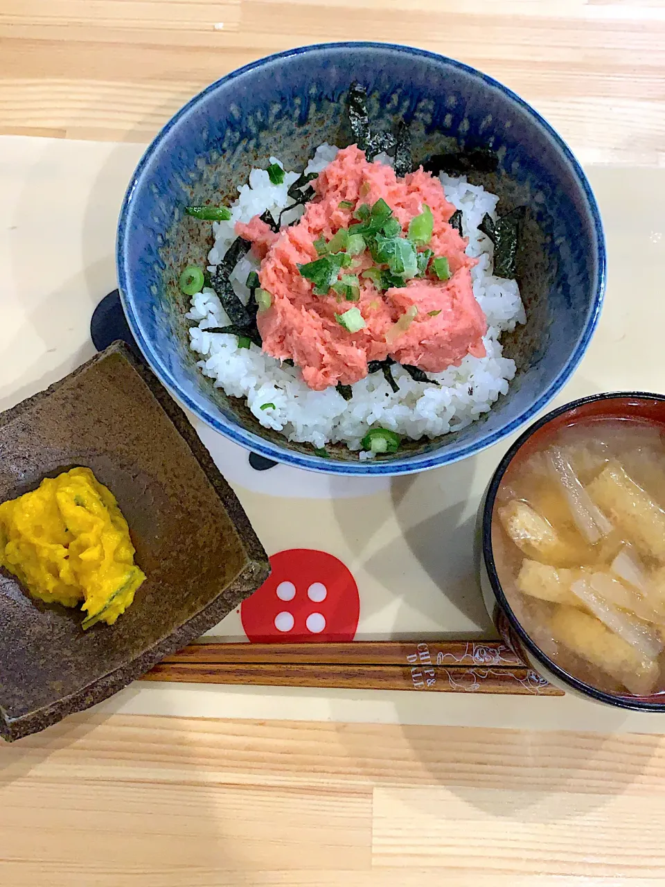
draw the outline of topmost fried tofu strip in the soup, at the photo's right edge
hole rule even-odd
[[[619,462],[606,465],[587,491],[640,553],[665,561],[665,512]]]

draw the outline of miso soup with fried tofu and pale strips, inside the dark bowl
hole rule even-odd
[[[665,692],[665,440],[589,420],[513,459],[492,523],[515,616],[573,677],[606,693]]]

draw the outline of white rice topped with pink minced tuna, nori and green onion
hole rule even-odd
[[[271,156],[228,207],[188,210],[202,238],[212,220],[214,243],[181,286],[216,388],[319,455],[342,443],[374,459],[465,428],[507,394],[501,335],[526,321],[524,210],[450,175],[491,168],[490,152],[414,169],[408,132],[372,135],[364,90],[350,97],[357,148],[319,145],[305,169]]]

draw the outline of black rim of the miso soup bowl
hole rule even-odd
[[[528,652],[536,659],[536,661],[543,665],[548,671],[552,671],[552,674],[559,679],[562,684],[570,687],[581,695],[591,696],[596,702],[613,705],[615,708],[629,709],[633,711],[665,712],[665,695],[663,695],[662,703],[653,703],[648,702],[647,697],[644,696],[618,696],[606,693],[603,690],[599,690],[598,687],[593,687],[591,684],[587,684],[585,681],[575,678],[567,671],[564,671],[559,665],[552,662],[552,659],[550,659],[550,657],[536,645],[536,642],[531,639],[531,636],[526,629],[522,627],[520,620],[515,616],[511,605],[508,603],[501,586],[501,581],[498,577],[497,565],[494,560],[494,552],[492,549],[492,515],[494,514],[497,492],[506,470],[510,466],[512,459],[514,459],[517,453],[521,450],[522,445],[540,428],[544,428],[544,426],[548,425],[552,420],[558,419],[559,416],[565,415],[567,412],[572,412],[580,406],[598,403],[603,400],[623,400],[629,397],[638,400],[657,400],[661,401],[661,403],[665,403],[664,395],[653,394],[649,391],[608,391],[602,394],[579,397],[577,400],[570,401],[570,403],[563,404],[562,406],[557,407],[556,410],[546,413],[539,420],[534,422],[533,425],[529,425],[526,431],[524,431],[517,440],[512,443],[511,448],[505,453],[504,458],[501,459],[497,465],[497,468],[489,481],[487,493],[482,504],[482,557],[485,569],[487,570],[489,585],[491,585],[492,592],[494,593],[499,606],[505,612],[505,616],[510,623],[512,631],[515,632],[520,639],[520,642],[525,648],[527,648]]]

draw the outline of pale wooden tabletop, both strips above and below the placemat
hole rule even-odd
[[[354,35],[481,67],[586,164],[665,166],[662,0],[0,0],[0,135],[145,142]],[[0,748],[10,887],[665,883],[659,736],[89,714]]]

